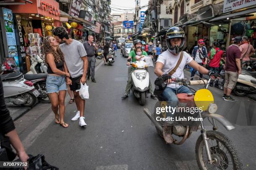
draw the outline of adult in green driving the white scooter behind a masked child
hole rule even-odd
[[[128,57],[128,59],[127,59],[127,65],[130,65],[130,62],[131,62],[131,61],[132,61],[132,62],[136,62],[136,58],[135,58],[135,56],[136,56],[136,48],[141,47],[141,46],[142,46],[141,40],[135,40],[135,42],[134,42],[134,47],[135,47],[135,49],[131,50],[131,52],[130,52],[130,54],[129,54],[129,57]],[[148,55],[148,54],[146,53],[146,51],[142,50],[142,55]],[[132,68],[131,73],[132,73],[134,70],[135,70],[135,69]],[[129,80],[127,81],[127,84],[126,84],[125,94],[123,95],[122,99],[127,98],[127,97],[128,97],[128,94],[130,94],[131,87],[132,87],[131,73],[130,73],[130,76],[129,76]],[[154,91],[153,91],[153,87],[152,87],[152,84],[151,84],[150,80],[149,80],[149,92],[151,93],[151,96],[150,96],[151,98],[156,97],[156,96],[154,95],[154,93],[153,93]]]

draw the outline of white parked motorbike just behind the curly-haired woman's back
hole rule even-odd
[[[27,72],[27,74],[47,73],[47,66],[39,55],[32,55],[31,61],[32,65],[30,66],[30,71]]]

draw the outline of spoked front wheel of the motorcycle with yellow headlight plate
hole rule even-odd
[[[233,142],[223,133],[207,131],[208,146],[214,163],[208,163],[202,135],[197,139],[195,152],[200,170],[242,170],[243,164]]]

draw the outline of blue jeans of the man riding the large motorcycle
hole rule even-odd
[[[172,101],[173,103],[176,103],[176,102],[178,102],[178,97],[176,94],[179,94],[179,93],[191,93],[191,91],[189,90],[188,87],[186,87],[184,85],[177,88],[177,93],[176,93],[175,88],[166,87],[164,89],[163,93],[161,94],[161,97],[165,101]]]

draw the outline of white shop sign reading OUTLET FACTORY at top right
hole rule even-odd
[[[256,0],[224,0],[223,13],[239,10],[256,4]]]

